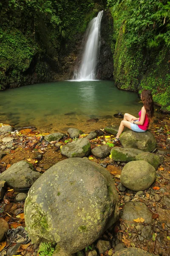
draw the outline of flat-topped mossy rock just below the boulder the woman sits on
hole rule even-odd
[[[111,150],[111,158],[119,162],[130,162],[136,160],[136,155],[143,151],[137,148],[119,148],[115,147]]]

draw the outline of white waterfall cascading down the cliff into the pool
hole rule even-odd
[[[75,72],[73,79],[77,81],[96,80],[97,53],[100,45],[100,23],[103,11],[91,20],[87,32],[87,42],[80,69]]]

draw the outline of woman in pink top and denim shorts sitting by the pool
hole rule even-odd
[[[150,119],[153,118],[154,114],[153,99],[150,90],[143,90],[141,93],[141,99],[143,102],[143,107],[139,112],[139,118],[125,113],[124,118],[119,126],[116,138],[113,140],[113,143],[120,140],[120,134],[122,134],[125,126],[136,132],[147,131]]]

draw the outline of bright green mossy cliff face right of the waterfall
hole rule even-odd
[[[170,42],[166,38],[168,16],[164,26],[163,21],[159,21],[162,17],[156,20],[154,16],[154,12],[159,16],[161,10],[168,8],[166,1],[160,7],[156,6],[157,1],[150,1],[153,2],[150,5],[148,1],[142,3],[136,0],[131,3],[128,0],[108,2],[116,2],[111,7],[116,86],[139,93],[149,89],[154,102],[162,110],[170,111]],[[144,8],[148,18],[143,14]]]

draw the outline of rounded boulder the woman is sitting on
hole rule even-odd
[[[150,131],[125,131],[120,136],[120,142],[124,148],[138,148],[149,152],[153,151],[157,145],[156,139]]]

